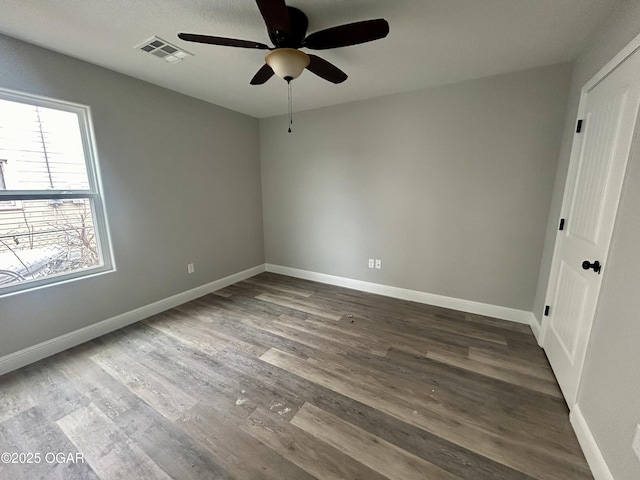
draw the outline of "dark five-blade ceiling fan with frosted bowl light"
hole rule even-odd
[[[306,36],[309,21],[301,10],[287,6],[285,0],[256,0],[256,3],[274,47],[248,40],[193,33],[179,33],[178,37],[188,42],[270,50],[265,56],[266,63],[251,79],[251,85],[261,85],[274,74],[290,83],[300,76],[305,68],[337,84],[347,79],[346,73],[317,55],[301,51],[300,48],[327,50],[358,45],[384,38],[389,33],[389,24],[380,18],[327,28]]]

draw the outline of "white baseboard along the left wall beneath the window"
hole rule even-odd
[[[193,288],[186,292],[178,293],[172,297],[159,300],[157,302],[145,305],[130,312],[123,313],[113,318],[103,320],[93,325],[75,330],[73,332],[61,335],[59,337],[47,340],[32,347],[0,357],[0,375],[17,370],[31,363],[50,357],[56,353],[60,353],[81,343],[93,340],[101,335],[126,327],[132,323],[144,320],[152,315],[164,312],[170,308],[177,307],[183,303],[190,302],[196,298],[200,298],[208,293],[215,292],[221,288],[228,287],[234,283],[240,282],[247,278],[264,272],[264,264],[258,265],[248,270],[229,275],[228,277],[215,280],[206,285]]]

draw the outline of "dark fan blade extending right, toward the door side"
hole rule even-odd
[[[346,47],[378,40],[386,37],[388,33],[389,24],[386,20],[365,20],[312,33],[304,40],[302,46],[313,50]]]

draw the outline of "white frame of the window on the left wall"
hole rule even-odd
[[[95,238],[100,252],[102,265],[93,268],[86,268],[59,275],[27,280],[17,284],[9,284],[0,287],[0,298],[24,291],[33,290],[49,285],[66,283],[72,280],[87,278],[107,272],[115,271],[113,261],[113,250],[109,235],[107,222],[107,212],[104,205],[102,182],[100,179],[100,169],[98,155],[95,148],[93,125],[91,122],[91,109],[87,105],[71,103],[63,100],[41,97],[29,93],[17,92],[0,88],[0,99],[12,102],[29,104],[33,106],[51,108],[54,110],[71,112],[77,115],[80,135],[82,138],[82,148],[87,167],[87,177],[89,181],[88,190],[0,190],[0,200],[15,201],[16,206],[21,200],[73,200],[90,199],[92,203],[93,226]],[[6,178],[5,178],[6,181]],[[16,208],[16,207],[11,207]]]

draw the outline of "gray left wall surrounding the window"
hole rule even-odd
[[[117,265],[0,298],[0,357],[264,263],[256,119],[3,36],[0,87],[91,107]]]

